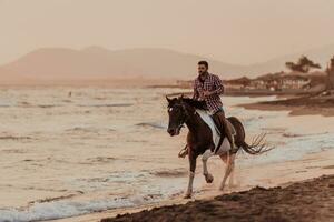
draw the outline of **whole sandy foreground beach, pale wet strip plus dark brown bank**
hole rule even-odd
[[[222,171],[222,168],[218,165],[210,165],[213,169],[213,172],[215,175]],[[285,209],[281,208],[282,205],[286,204],[292,204],[292,205],[299,205],[299,210],[302,211],[304,209],[304,203],[316,203],[318,201],[323,201],[323,195],[328,196],[330,192],[330,198],[332,205],[334,203],[334,189],[333,186],[331,190],[324,191],[324,193],[321,193],[320,190],[325,190],[325,183],[316,180],[317,182],[315,183],[317,188],[316,191],[314,189],[311,189],[308,183],[306,185],[303,185],[304,183],[298,183],[301,181],[305,180],[312,180],[314,178],[320,178],[322,175],[331,175],[331,184],[333,184],[333,174],[334,174],[334,151],[333,150],[327,150],[323,151],[320,153],[312,153],[305,155],[301,160],[294,160],[294,161],[285,161],[282,163],[273,163],[273,164],[264,164],[262,167],[254,165],[249,167],[247,169],[244,168],[237,168],[236,170],[236,186],[234,188],[228,188],[225,190],[224,193],[232,193],[232,192],[242,192],[242,193],[233,193],[230,195],[222,195],[222,192],[218,191],[218,184],[220,182],[220,178],[216,179],[214,181],[214,184],[208,184],[204,192],[202,193],[195,193],[193,200],[188,201],[183,199],[183,196],[175,198],[169,201],[164,201],[159,202],[156,204],[149,204],[149,205],[144,205],[141,208],[128,208],[128,209],[117,209],[117,210],[109,210],[105,212],[97,212],[97,213],[91,213],[87,215],[81,215],[81,216],[76,216],[76,218],[68,218],[68,219],[62,219],[62,220],[57,220],[57,222],[91,222],[91,221],[100,221],[101,219],[107,219],[110,218],[110,221],[196,221],[194,218],[173,218],[173,212],[181,212],[177,213],[178,215],[184,214],[184,212],[191,212],[189,213],[190,215],[195,214],[200,214],[200,216],[205,216],[206,212],[209,212],[210,214],[217,216],[215,220],[209,220],[207,218],[206,220],[198,220],[197,221],[217,221],[218,219],[224,218],[224,221],[261,221],[261,218],[249,218],[250,213],[261,213],[267,212],[267,213],[279,213],[281,210],[284,212]],[[203,180],[203,176],[200,172],[196,174],[195,180]],[[327,179],[326,179],[327,180]],[[294,183],[302,184],[302,185],[294,185]],[[186,184],[186,178],[185,178],[185,184]],[[258,189],[257,186],[261,184],[262,188],[264,189]],[[284,189],[271,189],[275,186],[282,186],[286,188],[293,185],[293,189],[288,189],[286,192]],[[333,184],[334,185],[334,184]],[[250,189],[250,192],[244,193],[244,191],[248,191]],[[268,190],[265,190],[268,189]],[[310,191],[311,190],[311,191]],[[314,191],[313,191],[314,190]],[[283,193],[281,193],[284,191]],[[268,199],[266,196],[272,196],[275,194],[275,198],[281,200],[279,204],[273,205],[273,203],[276,202],[276,199]],[[294,194],[296,196],[306,196],[305,200],[298,199],[296,203],[289,203],[289,200],[287,196],[291,194]],[[233,199],[234,195],[242,195],[244,196],[242,200],[229,200]],[[257,198],[252,198],[252,196],[262,196],[262,201],[257,201]],[[311,195],[311,196],[308,196]],[[283,199],[283,198],[286,199]],[[308,196],[308,198],[307,198]],[[281,199],[282,198],[282,199]],[[308,201],[307,201],[308,200]],[[316,200],[316,201],[313,201]],[[226,202],[226,203],[225,203]],[[301,203],[299,203],[301,202]],[[212,205],[215,208],[215,210],[206,210],[203,206],[203,203],[205,205]],[[245,204],[244,204],[245,203]],[[175,205],[178,204],[178,205]],[[180,205],[185,204],[185,205]],[[267,206],[272,205],[272,209],[265,208],[262,209],[261,206]],[[239,208],[240,206],[240,208]],[[330,206],[330,204],[327,205]],[[330,210],[324,205],[324,209],[322,211],[330,213],[333,209]],[[249,208],[249,209],[248,209]],[[314,208],[314,206],[312,206]],[[153,210],[154,211],[148,211]],[[232,210],[230,213],[229,211],[225,211],[224,209],[229,209]],[[240,218],[233,218],[237,216],[239,212],[244,212],[244,210],[247,210],[247,213],[240,214]],[[311,206],[307,209],[305,208],[305,212],[307,213]],[[297,209],[294,209],[297,211]],[[136,214],[137,212],[140,212],[139,214]],[[198,211],[198,212],[196,212]],[[304,211],[304,210],[303,210]],[[315,210],[316,212],[317,210]],[[313,212],[313,210],[311,211]],[[130,214],[129,214],[130,213]],[[156,214],[157,213],[157,214]],[[121,216],[118,219],[116,218],[118,214],[126,214],[126,216]],[[243,216],[244,218],[243,218]],[[139,216],[139,218],[137,218]],[[148,216],[148,218],[146,218]],[[161,216],[161,218],[159,218]],[[225,218],[226,216],[226,218]],[[256,215],[258,216],[258,215]],[[332,215],[333,218],[333,215]],[[111,220],[112,219],[112,220]],[[140,220],[139,220],[140,219]],[[141,220],[143,219],[143,220]],[[160,220],[156,220],[160,219]],[[179,219],[179,220],[178,220]],[[255,220],[256,219],[256,220]],[[257,220],[258,219],[258,220]],[[268,218],[263,218],[263,219],[268,219]],[[278,218],[277,218],[278,219]],[[294,221],[289,220],[292,218],[287,218],[286,220],[275,220],[275,221]],[[108,221],[108,220],[107,220]],[[263,221],[271,221],[271,220],[263,220]],[[274,221],[274,220],[272,220]],[[322,220],[311,220],[311,221],[322,221]],[[323,220],[323,221],[328,221],[328,220]]]

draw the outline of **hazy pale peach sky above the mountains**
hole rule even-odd
[[[0,0],[0,64],[41,47],[168,48],[247,64],[334,43],[332,0]]]

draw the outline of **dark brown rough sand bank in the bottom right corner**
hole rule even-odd
[[[254,188],[184,205],[155,208],[134,214],[102,219],[129,221],[331,221],[334,219],[334,174],[286,188]]]

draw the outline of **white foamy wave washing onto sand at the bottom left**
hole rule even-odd
[[[166,192],[151,191],[139,195],[126,195],[121,198],[99,199],[89,201],[69,200],[76,194],[46,199],[30,203],[27,208],[0,209],[0,222],[28,222],[47,221],[101,212],[112,209],[134,208],[157,203],[167,198],[177,196],[180,190]],[[81,193],[78,193],[81,194]]]

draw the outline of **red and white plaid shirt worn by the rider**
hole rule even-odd
[[[204,91],[216,91],[216,93],[204,97]],[[220,94],[224,93],[224,85],[219,77],[208,73],[207,78],[203,81],[196,78],[194,81],[194,99],[204,100],[207,108],[212,113],[217,112],[223,108],[223,102],[220,100]]]

